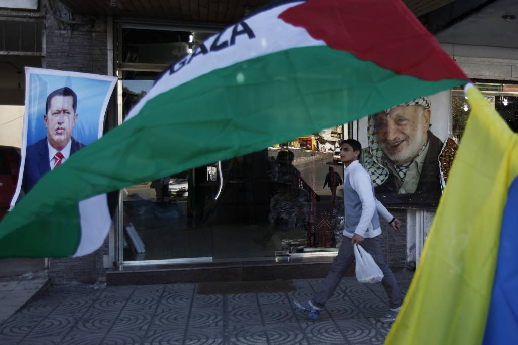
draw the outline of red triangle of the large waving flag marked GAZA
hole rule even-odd
[[[399,75],[469,80],[400,0],[308,0],[279,18]]]

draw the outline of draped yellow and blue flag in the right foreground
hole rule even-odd
[[[385,344],[518,344],[518,135],[472,84],[471,114]]]

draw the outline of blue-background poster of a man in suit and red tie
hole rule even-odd
[[[97,140],[115,77],[26,68],[22,165],[18,188],[28,193],[50,170]]]

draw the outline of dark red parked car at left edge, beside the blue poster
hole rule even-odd
[[[20,149],[0,146],[0,220],[9,210],[20,169]]]

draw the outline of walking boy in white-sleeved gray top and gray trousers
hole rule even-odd
[[[329,298],[333,296],[336,287],[340,283],[344,272],[349,268],[354,259],[353,245],[358,244],[369,252],[378,266],[383,271],[381,283],[389,296],[390,311],[383,318],[382,322],[392,322],[396,319],[401,309],[403,297],[399,286],[383,258],[381,252],[380,235],[381,227],[378,213],[396,230],[399,230],[401,223],[376,199],[374,187],[369,174],[359,164],[358,159],[362,146],[359,141],[346,139],[341,143],[340,161],[343,162],[343,203],[346,215],[346,224],[343,236],[344,239],[338,256],[329,270],[326,279],[322,283],[321,291],[315,293],[313,298],[304,304],[295,300],[295,307],[312,319],[318,319],[320,311]]]

